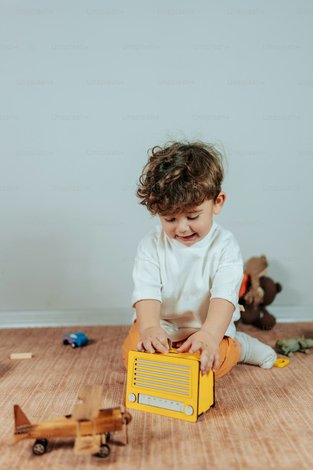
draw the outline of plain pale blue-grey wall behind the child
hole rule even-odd
[[[273,305],[312,307],[311,2],[2,10],[3,314],[114,308],[131,318],[137,243],[158,222],[136,181],[147,150],[180,130],[223,142],[227,201],[215,219],[244,260],[267,256],[283,286]]]

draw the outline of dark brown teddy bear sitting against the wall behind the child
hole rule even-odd
[[[268,330],[275,325],[275,317],[267,312],[265,308],[267,305],[270,305],[278,292],[282,290],[281,284],[274,282],[271,278],[262,276],[260,277],[258,289],[262,290],[262,300],[260,298],[256,303],[249,303],[245,301],[245,297],[242,296],[239,298],[239,306],[241,310],[241,320],[243,323],[252,324],[260,329]],[[250,283],[248,282],[248,288]],[[244,310],[243,310],[243,308]],[[237,320],[238,322],[239,320]],[[235,321],[235,325],[237,324]]]

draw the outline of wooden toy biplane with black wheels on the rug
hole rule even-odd
[[[131,421],[128,412],[122,413],[121,408],[100,409],[103,387],[101,385],[83,385],[78,398],[83,403],[74,406],[71,415],[55,418],[41,423],[30,423],[18,405],[14,405],[15,432],[9,444],[21,439],[36,439],[33,453],[42,455],[48,444],[44,436],[52,438],[76,436],[75,454],[97,454],[107,457],[110,447],[106,442],[110,432],[122,430],[126,424],[126,444],[128,444],[127,424]],[[103,442],[104,441],[104,442]]]

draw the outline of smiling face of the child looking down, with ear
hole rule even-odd
[[[169,238],[190,246],[204,238],[210,231],[213,214],[219,214],[225,202],[226,194],[221,192],[215,204],[213,199],[206,200],[196,208],[196,212],[171,217],[159,216],[164,232]],[[169,221],[170,220],[170,221]],[[191,235],[191,236],[190,236]]]

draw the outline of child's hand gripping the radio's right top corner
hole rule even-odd
[[[213,364],[213,372],[220,365],[220,345],[215,337],[204,330],[196,331],[193,333],[179,348],[177,352],[200,352],[200,364],[203,374],[207,374]]]

